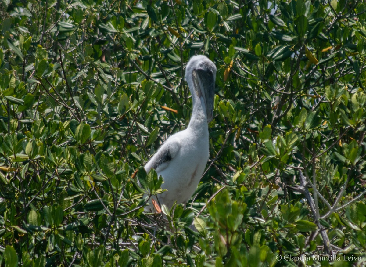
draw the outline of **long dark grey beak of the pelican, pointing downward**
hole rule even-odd
[[[213,118],[213,98],[215,94],[215,78],[213,73],[205,70],[194,70],[193,83],[199,98],[203,98],[206,107],[207,121]]]

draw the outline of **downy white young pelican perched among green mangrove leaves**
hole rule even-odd
[[[186,80],[193,100],[192,117],[187,129],[168,137],[146,163],[162,176],[160,204],[171,208],[175,201],[186,203],[192,196],[209,157],[208,122],[213,117],[216,66],[206,56],[193,56],[186,67]]]

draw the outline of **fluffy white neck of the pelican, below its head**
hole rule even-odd
[[[208,132],[206,107],[204,106],[205,104],[195,92],[192,94],[192,100],[192,116],[188,124],[188,129],[197,131],[198,134],[202,134],[202,131],[205,129]]]

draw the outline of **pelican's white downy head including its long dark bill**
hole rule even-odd
[[[206,56],[193,56],[186,67],[186,80],[192,95],[196,94],[204,105],[207,121],[213,118],[216,66]]]

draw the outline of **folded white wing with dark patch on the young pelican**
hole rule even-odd
[[[146,163],[146,172],[148,173],[150,169],[153,168],[157,173],[160,173],[169,166],[169,163],[178,154],[179,150],[179,138],[168,138],[153,157]]]

